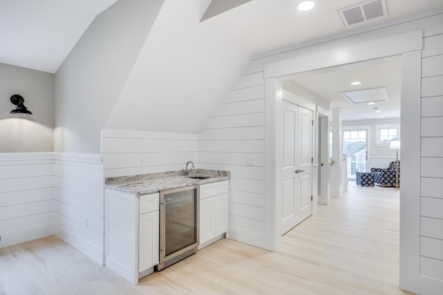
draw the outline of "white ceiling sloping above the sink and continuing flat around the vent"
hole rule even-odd
[[[389,0],[390,16],[345,27],[337,9],[351,0],[253,0],[199,22],[208,0],[166,0],[106,128],[199,133],[253,57],[433,14],[441,0]],[[291,45],[292,44],[292,45]]]

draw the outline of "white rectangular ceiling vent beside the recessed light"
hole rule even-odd
[[[387,16],[388,0],[367,0],[337,10],[345,26]]]

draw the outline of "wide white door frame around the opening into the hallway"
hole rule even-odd
[[[282,101],[279,77],[344,64],[401,55],[402,187],[400,191],[400,287],[419,292],[420,104],[423,30],[369,39],[356,35],[345,45],[320,46],[304,55],[264,64],[265,82],[265,225],[269,249],[281,247],[282,196],[279,195],[278,111]],[[405,120],[408,118],[408,120]],[[404,131],[408,131],[408,133]]]

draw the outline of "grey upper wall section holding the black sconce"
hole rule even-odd
[[[54,75],[0,64],[0,153],[53,151]],[[32,116],[10,115],[19,94]]]

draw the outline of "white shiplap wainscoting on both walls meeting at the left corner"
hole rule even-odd
[[[104,216],[100,155],[0,153],[0,247],[57,234],[102,264]]]

